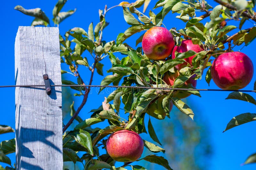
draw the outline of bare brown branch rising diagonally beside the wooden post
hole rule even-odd
[[[90,82],[89,82],[89,85],[92,85],[92,78],[93,78],[93,73],[94,73],[94,70],[95,70],[95,67],[96,67],[96,63],[97,63],[97,59],[95,59],[94,61],[94,64],[93,64],[93,68],[92,68],[92,74],[91,74],[91,78],[90,78]],[[70,118],[70,120],[68,121],[68,123],[63,127],[62,129],[62,132],[64,133],[68,127],[73,123],[73,121],[75,120],[75,118],[77,117],[78,113],[81,111],[81,109],[84,107],[86,101],[87,101],[87,98],[88,98],[88,95],[89,95],[89,92],[90,92],[90,88],[91,87],[88,87],[88,88],[85,88],[85,93],[84,93],[84,99],[81,103],[81,105],[77,108],[75,114]]]

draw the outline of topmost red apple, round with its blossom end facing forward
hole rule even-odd
[[[171,32],[164,27],[150,28],[142,39],[143,52],[153,60],[164,60],[169,57],[174,45]]]

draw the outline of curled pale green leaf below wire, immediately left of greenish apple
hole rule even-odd
[[[148,89],[139,98],[139,103],[136,107],[137,113],[139,116],[141,113],[145,112],[148,108],[148,105],[150,102],[152,102],[157,95],[155,94],[156,90],[155,89]]]

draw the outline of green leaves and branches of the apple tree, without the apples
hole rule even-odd
[[[66,1],[67,0],[59,0],[53,9],[53,22],[57,26],[59,26],[65,18],[76,11],[76,9],[74,9],[71,11],[60,12]],[[112,67],[108,69],[108,73],[112,74],[107,75],[101,81],[101,85],[110,85],[113,83],[113,85],[121,84],[122,86],[134,87],[169,87],[169,85],[162,79],[164,74],[167,72],[174,73],[174,67],[176,65],[183,63],[185,58],[194,54],[196,56],[192,60],[192,66],[188,64],[186,69],[180,71],[180,75],[176,78],[173,87],[188,88],[184,85],[184,82],[193,75],[196,75],[195,79],[202,79],[203,71],[207,67],[209,67],[209,69],[205,79],[209,83],[211,81],[210,57],[216,57],[221,53],[229,52],[235,46],[240,46],[242,44],[247,46],[256,36],[256,27],[242,29],[246,20],[256,21],[253,11],[255,1],[215,1],[220,5],[212,7],[204,0],[159,0],[156,2],[155,7],[149,11],[148,15],[143,12],[146,11],[150,0],[137,0],[131,4],[121,2],[116,6],[121,6],[123,8],[124,19],[130,27],[127,28],[124,33],[119,33],[116,41],[109,42],[102,40],[104,28],[108,26],[105,15],[111,10],[111,8],[107,8],[106,6],[104,10],[99,10],[100,22],[98,24],[93,25],[93,23],[91,23],[86,30],[75,27],[67,31],[64,36],[60,35],[61,62],[66,63],[69,66],[69,70],[62,70],[62,73],[73,74],[77,77],[77,82],[62,80],[62,83],[68,85],[84,85],[85,81],[81,78],[77,68],[86,67],[91,71],[91,78],[89,80],[89,85],[91,85],[95,69],[98,74],[103,75],[102,68],[104,65],[102,60],[108,57],[112,63]],[[141,12],[139,8],[143,4],[144,8],[143,12]],[[161,11],[157,14],[154,13],[156,8],[161,8]],[[31,24],[32,26],[47,26],[50,24],[49,18],[40,8],[26,10],[18,5],[15,9],[26,15],[35,17]],[[212,11],[210,11],[210,9],[212,9]],[[173,60],[166,59],[156,61],[150,60],[143,55],[141,47],[134,49],[124,43],[124,41],[130,38],[133,34],[148,30],[154,26],[163,25],[165,16],[171,15],[171,13],[172,15],[177,15],[176,18],[179,18],[186,23],[186,27],[183,29],[170,29],[176,45],[179,46],[183,39],[191,39],[194,44],[202,46],[204,51],[199,53],[195,53],[194,51],[177,53],[177,57]],[[204,18],[207,17],[210,17],[210,20],[204,22]],[[227,21],[229,20],[237,21],[239,24],[237,26],[227,25]],[[227,34],[231,31],[236,31],[236,33],[232,36],[228,36]],[[142,37],[143,34],[136,40],[136,45],[140,44]],[[228,45],[226,45],[226,43],[228,43]],[[94,60],[93,63],[89,63],[87,58],[84,57],[85,51],[92,56]],[[120,60],[115,56],[115,53],[122,53],[125,57]],[[100,146],[105,149],[106,137],[112,132],[121,129],[130,129],[139,134],[149,133],[152,140],[161,145],[156,130],[154,130],[151,122],[148,124],[148,129],[144,124],[145,115],[149,114],[148,107],[151,105],[161,106],[160,109],[163,110],[163,115],[153,116],[158,119],[163,119],[165,117],[170,118],[169,105],[171,102],[182,113],[188,115],[192,119],[195,115],[186,103],[173,96],[177,92],[176,90],[117,88],[107,97],[98,109],[91,111],[92,114],[89,119],[83,120],[78,116],[78,113],[86,103],[90,87],[72,87],[72,89],[77,91],[77,93],[74,94],[75,96],[83,96],[84,98],[82,104],[77,109],[74,108],[74,103],[71,105],[72,118],[69,120],[68,124],[63,127],[63,131],[65,131],[63,135],[63,160],[72,161],[74,164],[77,161],[82,162],[84,169],[125,169],[125,167],[128,166],[126,163],[123,166],[116,168],[115,161],[109,159],[108,154],[101,154],[98,149]],[[101,88],[100,91],[103,89],[104,88]],[[183,92],[200,96],[198,91],[188,90]],[[234,98],[255,104],[255,100],[248,94],[233,92],[227,99]],[[113,104],[110,104],[109,102]],[[124,104],[123,108],[121,108],[121,103]],[[248,122],[248,117],[251,118],[250,121],[255,120],[255,114],[244,113],[238,115],[229,122],[226,130]],[[79,124],[73,130],[66,131],[75,119]],[[92,124],[97,124],[103,121],[107,121],[109,125],[103,128],[91,127]],[[9,141],[6,141],[5,143],[10,143],[8,145],[11,145],[11,142]],[[153,153],[164,152],[163,148],[148,141],[144,141],[144,145]],[[82,157],[79,157],[78,153],[84,154]],[[9,158],[5,154],[7,153],[1,151],[0,160],[11,164]],[[168,160],[161,156],[151,154],[142,159],[162,165],[166,169],[171,169]],[[252,162],[255,162],[255,155],[250,156],[245,163]],[[141,166],[132,166],[132,169],[145,168]]]

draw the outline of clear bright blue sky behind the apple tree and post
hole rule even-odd
[[[14,85],[14,41],[18,26],[29,26],[33,20],[32,17],[26,16],[19,11],[14,10],[13,8],[16,5],[21,5],[26,9],[40,7],[49,19],[52,19],[52,9],[56,4],[57,0],[45,0],[45,1],[35,1],[35,0],[14,0],[14,1],[3,1],[0,6],[1,14],[1,58],[2,66],[0,71],[2,73],[2,81],[0,85]],[[77,11],[74,15],[67,18],[60,24],[60,34],[64,35],[66,31],[73,27],[82,27],[86,31],[91,22],[94,23],[94,26],[99,21],[98,9],[104,9],[105,4],[108,7],[119,4],[119,0],[111,1],[88,1],[88,0],[69,0],[67,4],[63,7],[63,11],[68,11],[74,8],[77,8]],[[148,15],[149,9],[152,9],[156,0],[152,0],[146,14]],[[213,1],[208,1],[212,6],[216,5]],[[184,23],[175,18],[176,14],[169,13],[164,19],[164,24],[168,29],[172,27],[177,27],[178,29],[184,28]],[[114,8],[109,11],[106,16],[107,22],[110,22],[106,28],[103,39],[106,41],[115,40],[118,33],[124,32],[129,26],[125,23],[123,18],[123,11],[121,7]],[[53,26],[53,25],[52,25]],[[246,22],[243,28],[252,27],[252,23]],[[235,30],[237,31],[237,29]],[[140,35],[140,34],[139,34]],[[139,36],[138,35],[138,36]],[[132,47],[135,47],[135,40],[137,36],[132,36],[127,43]],[[241,52],[247,54],[254,63],[256,68],[256,57],[255,57],[255,45],[256,40],[252,42],[249,46],[244,47]],[[239,50],[242,46],[236,48]],[[89,58],[89,57],[88,57]],[[110,68],[110,62],[108,59],[104,61],[104,73],[106,76],[106,70]],[[65,68],[65,67],[63,67]],[[83,75],[87,75],[87,71],[84,71]],[[86,79],[86,77],[84,77]],[[97,76],[93,79],[95,85],[100,84],[100,81],[103,79],[103,76]],[[252,82],[244,89],[252,90],[253,83],[256,80],[256,72],[252,78]],[[204,78],[201,81],[197,81],[198,89],[209,88],[208,84],[204,81]],[[211,81],[210,89],[218,89],[218,87]],[[93,90],[95,92],[95,90]],[[14,88],[1,88],[1,107],[0,107],[0,124],[10,125],[15,128],[15,89]],[[232,117],[246,112],[255,113],[256,106],[250,103],[236,101],[236,100],[225,100],[228,96],[228,92],[201,92],[201,98],[197,96],[190,96],[190,107],[200,110],[201,115],[204,116],[204,120],[209,125],[212,139],[212,150],[213,156],[211,161],[210,170],[226,170],[226,169],[237,169],[237,170],[251,170],[256,169],[256,164],[240,166],[241,163],[245,161],[247,156],[256,152],[255,148],[255,128],[256,122],[251,122],[248,124],[241,125],[234,129],[228,130],[225,133],[222,131],[225,129],[227,123],[232,119]],[[250,93],[253,97],[256,97],[255,94]],[[106,96],[106,95],[105,95]],[[79,106],[81,97],[76,98],[75,107]],[[98,96],[96,93],[93,93],[89,96],[89,100],[86,103],[86,106],[81,112],[81,117],[88,118],[87,114],[92,108],[97,108],[100,103],[99,101],[104,100],[104,94]],[[196,113],[195,113],[196,115]],[[196,119],[196,116],[194,117]],[[154,122],[153,122],[154,124]],[[12,139],[15,137],[14,133],[0,135],[0,141]],[[12,163],[15,161],[15,155],[11,155]],[[170,162],[170,165],[172,163]]]

